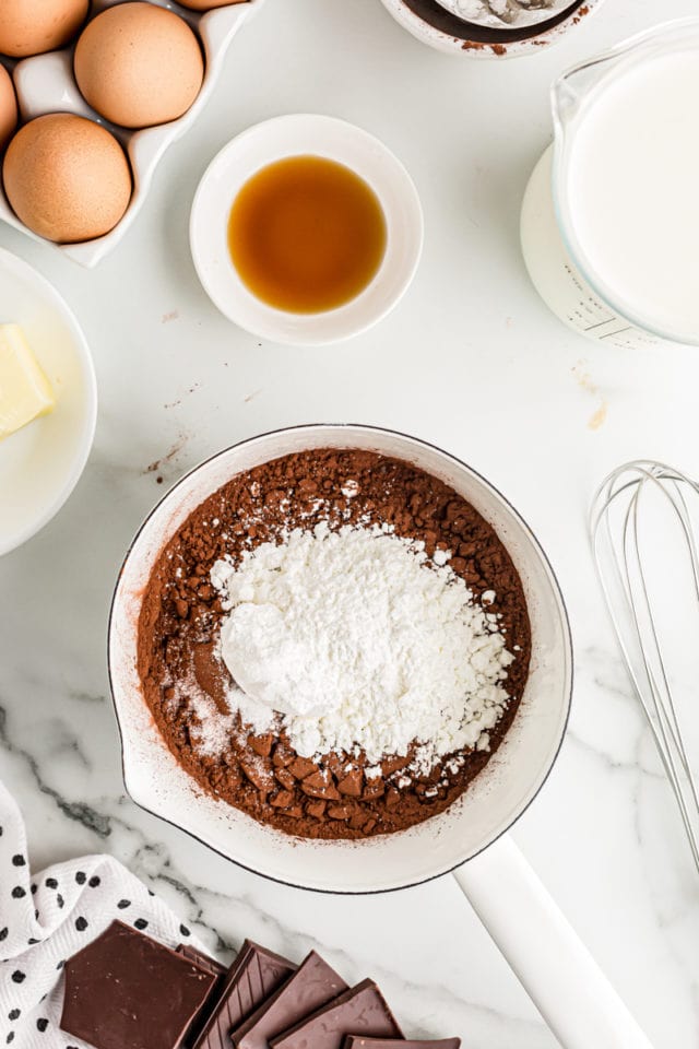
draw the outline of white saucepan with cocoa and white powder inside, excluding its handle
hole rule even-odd
[[[371,892],[453,869],[526,808],[571,662],[499,493],[414,438],[324,425],[165,496],[119,578],[109,669],[139,804],[266,876]]]

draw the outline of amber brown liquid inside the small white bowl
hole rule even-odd
[[[294,314],[356,298],[376,276],[386,216],[371,187],[322,156],[291,156],[242,186],[228,219],[228,249],[252,294]]]

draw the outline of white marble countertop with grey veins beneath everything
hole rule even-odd
[[[238,870],[123,797],[106,616],[129,539],[163,492],[158,473],[168,484],[205,455],[285,424],[393,426],[477,467],[550,554],[576,638],[574,707],[516,838],[659,1049],[696,1049],[699,883],[602,612],[584,515],[624,459],[657,456],[699,474],[699,358],[612,351],[569,332],[537,299],[518,248],[523,188],[549,140],[552,78],[696,4],[660,7],[607,0],[556,49],[502,63],[428,50],[378,0],[269,0],[134,228],[96,271],[0,227],[0,244],[78,311],[102,393],[75,494],[0,563],[0,775],[23,806],[34,864],[109,851],[224,954],[246,934],[295,955],[321,945],[346,977],[379,979],[411,1034],[458,1033],[465,1049],[555,1045],[449,879],[380,898],[307,895]],[[247,125],[292,110],[378,134],[425,205],[410,295],[334,350],[260,345],[236,330],[201,291],[188,251],[188,211],[212,155]]]

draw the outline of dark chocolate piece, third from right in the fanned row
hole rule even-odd
[[[288,1030],[346,990],[342,977],[311,951],[279,991],[232,1032],[234,1045],[237,1049],[268,1049],[271,1038]]]

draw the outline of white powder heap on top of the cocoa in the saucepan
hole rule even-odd
[[[319,524],[237,567],[218,561],[211,579],[229,610],[229,704],[254,732],[281,718],[301,756],[363,750],[370,764],[417,740],[420,773],[487,747],[513,657],[497,617],[424,544],[386,527]]]

